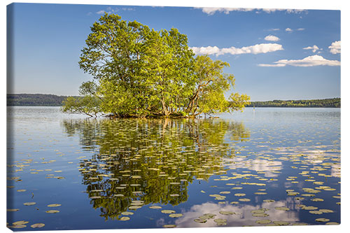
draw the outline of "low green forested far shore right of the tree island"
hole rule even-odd
[[[246,107],[307,107],[307,108],[340,108],[340,98],[251,101]]]

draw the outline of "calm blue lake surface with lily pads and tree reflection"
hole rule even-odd
[[[340,223],[339,108],[96,120],[8,107],[8,130],[12,230]]]

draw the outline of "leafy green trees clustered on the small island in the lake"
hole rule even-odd
[[[247,103],[236,98],[232,108],[224,96],[235,85],[234,76],[223,73],[229,64],[195,57],[178,29],[155,31],[105,14],[94,22],[85,42],[79,65],[94,81],[83,83],[80,94],[100,100],[94,110],[117,117],[195,117],[241,109]],[[66,104],[63,110],[75,112],[85,101]]]

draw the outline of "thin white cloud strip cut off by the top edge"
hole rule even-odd
[[[298,9],[280,9],[280,8],[220,8],[220,7],[195,7],[202,9],[203,13],[207,13],[208,15],[214,15],[216,12],[225,13],[226,15],[230,14],[231,11],[253,11],[256,13],[265,12],[265,13],[274,13],[275,11],[283,11],[286,10],[286,13],[302,13],[306,10],[298,10]]]

